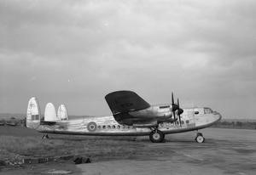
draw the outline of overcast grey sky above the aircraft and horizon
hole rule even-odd
[[[110,115],[104,97],[255,118],[256,1],[0,0],[0,112],[38,98]]]

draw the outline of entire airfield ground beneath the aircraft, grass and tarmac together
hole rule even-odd
[[[25,127],[0,127],[0,160],[81,155],[92,161],[5,166],[0,174],[255,174],[256,130],[207,128],[201,133],[203,144],[195,143],[194,132],[166,135],[166,143],[153,144],[148,137],[50,134],[41,139],[41,133]]]

